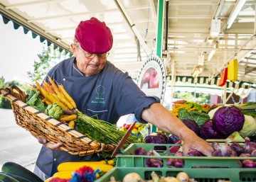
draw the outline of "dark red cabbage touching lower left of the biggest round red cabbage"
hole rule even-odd
[[[206,139],[221,139],[223,135],[213,127],[213,121],[208,120],[200,127],[200,137]]]

